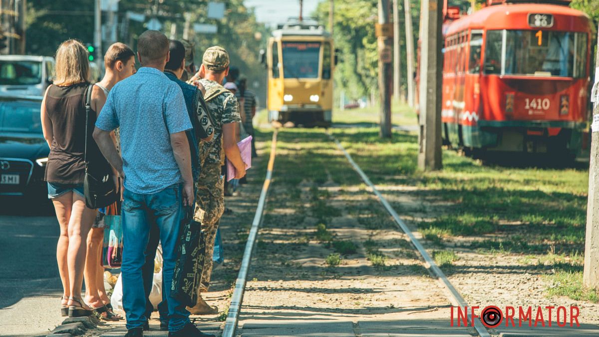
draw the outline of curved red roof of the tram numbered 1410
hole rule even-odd
[[[543,13],[561,17],[550,28],[555,31],[592,31],[591,19],[582,11],[562,5],[552,4],[501,4],[492,5],[461,17],[450,23],[446,35],[470,29],[531,29],[528,14]],[[570,20],[563,20],[571,17]]]

